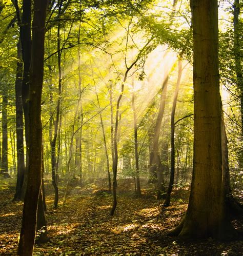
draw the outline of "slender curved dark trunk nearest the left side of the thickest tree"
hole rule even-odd
[[[171,196],[171,191],[172,191],[173,184],[174,184],[174,176],[175,176],[175,138],[174,138],[174,136],[175,136],[175,108],[176,108],[177,97],[178,97],[178,92],[179,92],[181,72],[182,72],[181,60],[179,58],[179,60],[178,60],[178,77],[177,77],[177,83],[176,83],[176,88],[175,88],[173,106],[172,106],[172,111],[171,111],[171,165],[170,165],[171,169],[170,169],[170,182],[169,182],[169,186],[168,186],[164,206],[169,206],[170,205],[170,196]]]

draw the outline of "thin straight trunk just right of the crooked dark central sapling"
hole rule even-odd
[[[132,81],[132,110],[133,110],[133,128],[134,128],[134,149],[135,149],[135,171],[136,171],[136,187],[135,191],[138,196],[141,196],[140,178],[139,178],[139,159],[138,159],[138,141],[137,141],[137,115],[135,108],[135,93],[134,81]]]

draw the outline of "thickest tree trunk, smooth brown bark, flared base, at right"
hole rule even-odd
[[[174,233],[191,238],[232,238],[222,186],[221,99],[216,0],[191,1],[193,24],[194,160],[185,219]]]

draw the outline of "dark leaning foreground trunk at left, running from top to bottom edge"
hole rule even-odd
[[[29,93],[29,171],[19,239],[19,255],[33,254],[36,212],[42,169],[42,123],[40,119],[44,74],[44,41],[47,0],[34,1]],[[30,196],[31,195],[31,196]]]

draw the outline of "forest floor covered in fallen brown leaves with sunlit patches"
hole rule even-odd
[[[48,236],[51,242],[35,245],[34,254],[164,254],[164,255],[243,255],[243,241],[214,239],[184,241],[170,237],[187,209],[187,190],[173,194],[171,206],[164,208],[149,190],[136,198],[133,191],[120,191],[117,209],[110,216],[112,195],[97,189],[72,187],[63,206],[53,209],[53,189],[46,186]],[[16,254],[21,229],[22,202],[13,202],[14,181],[0,184],[0,254]],[[242,230],[242,222],[233,220]]]

